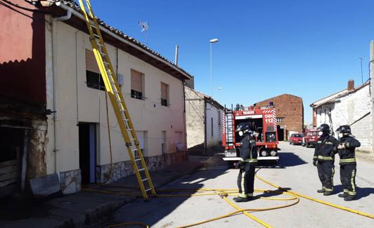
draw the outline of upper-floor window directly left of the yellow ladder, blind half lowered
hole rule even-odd
[[[98,69],[95,55],[89,49],[86,49],[86,85],[89,88],[105,90],[105,84]]]

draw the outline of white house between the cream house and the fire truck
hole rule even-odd
[[[187,150],[191,153],[221,152],[224,107],[208,95],[185,87]]]

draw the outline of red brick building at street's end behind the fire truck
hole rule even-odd
[[[302,98],[285,93],[257,102],[254,105],[260,108],[275,107],[278,140],[288,140],[292,133],[302,133],[304,127],[304,105]]]

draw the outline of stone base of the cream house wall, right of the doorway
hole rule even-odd
[[[146,164],[150,171],[155,171],[165,166],[171,165],[173,163],[178,163],[181,161],[188,160],[187,152],[175,152],[169,154],[162,154],[160,156],[147,157]],[[110,175],[110,164],[105,164],[103,166],[96,167],[96,180],[98,183],[105,182],[108,180],[110,182],[116,182],[122,177],[127,177],[128,175],[134,174],[134,168],[131,166],[130,161],[120,161],[112,164],[112,177]]]

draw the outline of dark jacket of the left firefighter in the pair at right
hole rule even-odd
[[[314,149],[314,161],[331,161],[334,162],[335,154],[339,142],[331,135],[322,135],[316,142]]]

